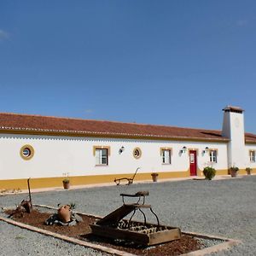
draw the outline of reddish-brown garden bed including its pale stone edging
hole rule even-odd
[[[0,217],[0,220],[9,224],[15,224],[26,228],[27,230],[36,231],[47,236],[54,236],[55,238],[73,242],[85,247],[92,247],[96,250],[104,251],[106,253],[113,253],[115,255],[204,255],[204,253],[211,253],[233,246],[240,241],[230,240],[223,237],[207,236],[196,233],[182,233],[180,240],[166,242],[161,246],[154,247],[131,247],[120,241],[115,242],[109,239],[98,239],[90,234],[90,224],[93,224],[97,219],[101,218],[83,212],[77,212],[84,219],[83,223],[77,226],[48,226],[44,224],[44,220],[49,218],[51,214],[49,210],[56,210],[55,207],[35,206],[31,213],[24,213],[23,216],[15,217],[14,219]],[[203,240],[215,241],[213,247],[205,247]],[[202,250],[201,247],[203,248]]]

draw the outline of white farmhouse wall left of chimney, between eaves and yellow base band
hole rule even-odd
[[[20,148],[34,148],[31,160],[20,157]],[[96,166],[93,146],[109,146],[108,166]],[[119,148],[125,147],[122,154]],[[218,163],[213,167],[227,168],[226,143],[187,143],[170,141],[122,140],[111,138],[49,137],[29,135],[0,135],[0,180],[27,177],[62,177],[139,172],[185,172],[189,170],[189,154],[180,154],[183,146],[198,149],[198,166],[208,165],[209,155],[204,148],[218,148]],[[133,157],[133,149],[141,148],[142,156]],[[172,164],[162,165],[160,148],[172,148]]]

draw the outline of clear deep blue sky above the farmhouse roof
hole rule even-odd
[[[0,112],[256,133],[256,1],[0,2]]]

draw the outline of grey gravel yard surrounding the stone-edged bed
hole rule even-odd
[[[242,241],[214,255],[256,255],[256,176],[225,180],[141,183],[32,194],[33,203],[57,207],[75,203],[76,211],[104,216],[122,203],[120,193],[148,190],[161,224],[183,231],[226,236]],[[0,196],[0,207],[14,207],[26,195]],[[155,222],[148,212],[148,221]],[[107,255],[0,222],[1,255]],[[213,255],[213,254],[212,254]]]

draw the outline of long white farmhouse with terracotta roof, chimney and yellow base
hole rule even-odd
[[[256,135],[244,132],[243,110],[226,107],[222,131],[0,113],[0,189],[217,175],[237,166],[256,172]]]

